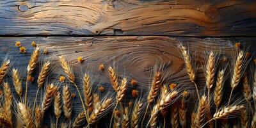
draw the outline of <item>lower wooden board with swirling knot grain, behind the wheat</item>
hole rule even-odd
[[[46,58],[54,58],[59,55],[67,56],[74,72],[76,74],[76,83],[81,88],[81,74],[82,72],[88,72],[95,79],[94,88],[97,92],[97,86],[102,84],[106,88],[106,93],[112,92],[111,85],[109,84],[108,76],[98,69],[100,64],[107,66],[114,66],[118,70],[118,76],[128,77],[129,80],[134,78],[138,81],[138,88],[141,93],[141,98],[147,93],[148,85],[153,72],[153,67],[156,63],[168,63],[165,70],[170,76],[170,82],[180,83],[191,91],[191,94],[195,94],[195,88],[193,84],[189,82],[184,69],[184,62],[180,56],[177,45],[181,42],[184,45],[189,45],[189,51],[191,54],[195,54],[198,58],[195,60],[198,63],[198,67],[201,67],[200,63],[202,57],[205,54],[205,50],[221,50],[221,53],[227,55],[228,58],[232,59],[232,49],[234,49],[235,42],[241,42],[242,47],[250,46],[249,50],[255,52],[256,45],[254,44],[256,38],[172,38],[169,36],[97,36],[97,37],[1,37],[0,38],[0,57],[1,60],[6,58],[12,58],[13,67],[26,71],[26,66],[33,51],[31,46],[32,41],[40,42],[39,47],[49,49],[49,54],[42,55],[41,60]],[[22,45],[27,47],[26,54],[20,54],[19,48],[15,47],[15,41],[22,42]],[[77,63],[77,56],[83,56],[85,61],[83,63]],[[42,65],[42,61],[40,62]],[[37,79],[38,70],[40,65],[37,67],[35,73],[35,81]],[[52,71],[51,79],[58,79],[61,70],[56,67]],[[26,73],[24,73],[26,75]],[[7,78],[8,79],[8,78]],[[10,81],[10,79],[8,79]],[[49,82],[51,82],[49,80]],[[25,82],[25,81],[24,81]],[[197,77],[198,86],[202,92],[205,88],[204,72],[202,68],[198,68]],[[60,88],[61,88],[60,84]],[[76,93],[76,90],[72,88],[72,92]],[[129,86],[127,92],[127,99],[124,102],[129,102],[131,97],[132,86]],[[36,82],[29,84],[29,99],[33,100],[35,96],[37,86]],[[229,86],[227,86],[226,93],[229,94]],[[81,88],[82,90],[82,88]],[[104,95],[101,94],[101,95]],[[227,95],[228,95],[227,94]],[[241,95],[238,95],[241,97]],[[42,96],[41,96],[42,97]],[[193,111],[195,105],[196,95],[191,95],[189,102],[189,113]],[[18,99],[17,99],[18,100]],[[213,106],[214,107],[214,106]],[[78,111],[81,111],[81,104],[78,97],[74,98],[74,113],[75,116]],[[52,110],[49,110],[51,112]],[[46,124],[49,124],[51,120],[55,120],[53,113],[47,115]]]

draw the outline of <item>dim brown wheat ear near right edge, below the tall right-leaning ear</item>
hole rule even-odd
[[[252,93],[251,93],[251,88],[248,82],[248,76],[246,73],[244,73],[244,77],[243,77],[243,94],[244,94],[245,100],[250,103],[250,100],[252,99]]]

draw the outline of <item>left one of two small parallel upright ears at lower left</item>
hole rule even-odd
[[[61,115],[61,95],[60,95],[60,92],[56,92],[56,94],[54,96],[53,106],[54,106],[54,115],[56,116],[56,118],[60,118],[60,115]]]

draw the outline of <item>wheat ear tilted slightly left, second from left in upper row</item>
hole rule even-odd
[[[19,95],[20,99],[22,96],[22,82],[20,81],[19,72],[17,69],[12,70],[12,81],[15,88],[15,92]]]

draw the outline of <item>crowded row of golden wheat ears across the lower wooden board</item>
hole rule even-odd
[[[214,125],[215,127],[220,127],[220,125],[221,127],[230,127],[229,118],[234,119],[236,116],[239,117],[239,126],[256,127],[256,72],[252,74],[246,72],[246,70],[254,71],[254,67],[248,68],[250,56],[245,51],[237,49],[234,60],[230,61],[232,65],[230,72],[227,72],[227,66],[225,66],[227,63],[220,64],[220,61],[227,60],[220,60],[217,51],[207,52],[204,65],[205,89],[200,91],[196,85],[195,62],[191,59],[188,47],[181,44],[178,47],[182,58],[184,58],[191,85],[196,90],[195,96],[198,102],[194,106],[188,106],[188,100],[193,96],[193,90],[182,88],[180,84],[164,84],[163,70],[154,72],[145,100],[138,98],[134,102],[124,104],[126,91],[129,88],[129,79],[126,77],[120,79],[115,68],[105,68],[104,65],[100,65],[100,70],[108,74],[114,92],[114,95],[107,93],[101,97],[98,93],[93,92],[92,79],[89,74],[83,74],[83,83],[76,84],[76,77],[65,56],[58,56],[58,65],[62,68],[69,84],[46,82],[53,64],[52,61],[45,61],[37,79],[38,90],[45,88],[44,94],[42,94],[44,96],[40,99],[40,104],[36,104],[37,90],[35,101],[31,104],[28,102],[28,84],[33,80],[41,54],[41,50],[36,47],[26,69],[26,85],[23,85],[19,70],[11,67],[12,61],[6,59],[0,67],[0,82],[3,89],[3,95],[0,96],[0,127],[45,127],[45,112],[51,107],[56,118],[56,122],[52,122],[51,127],[99,127],[100,118],[107,114],[111,118],[105,119],[105,124],[108,124],[105,127],[166,127],[166,124],[171,124],[175,128],[214,127]],[[81,58],[79,60],[81,61]],[[11,74],[12,84],[6,82],[7,74]],[[62,79],[64,78],[62,77]],[[230,80],[228,84],[225,83],[226,79]],[[136,84],[136,81],[132,80],[131,83]],[[232,100],[233,91],[239,84],[243,88],[244,102],[243,99]],[[11,85],[15,92],[12,91]],[[76,117],[72,116],[74,95],[70,91],[72,87],[69,85],[76,88],[83,108]],[[222,101],[224,85],[232,88],[227,101]],[[83,86],[83,90],[79,89],[80,86]],[[24,91],[23,88],[25,88]],[[100,90],[103,89],[101,87]],[[253,102],[254,105],[252,105]],[[192,107],[195,108],[195,111],[190,116],[187,110]],[[214,110],[212,111],[212,109]],[[64,119],[62,122],[58,121],[61,115],[66,121]],[[166,123],[167,117],[170,123]],[[237,125],[234,124],[234,127],[239,127]],[[101,127],[103,126],[101,125]]]

